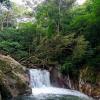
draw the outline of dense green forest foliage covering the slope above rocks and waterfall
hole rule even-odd
[[[74,1],[45,1],[33,14],[36,20],[20,23],[18,29],[5,21],[0,52],[24,63],[56,66],[63,74],[84,66],[100,71],[100,0],[80,6]]]

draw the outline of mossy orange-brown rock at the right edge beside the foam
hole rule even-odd
[[[99,100],[100,99],[100,72],[96,72],[95,74],[94,71],[88,67],[80,70],[79,90]]]

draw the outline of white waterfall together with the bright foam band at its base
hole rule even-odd
[[[92,100],[87,95],[64,88],[52,87],[50,84],[50,74],[47,70],[30,69],[30,85],[32,87],[32,95],[71,95],[81,98],[86,98],[86,100]]]

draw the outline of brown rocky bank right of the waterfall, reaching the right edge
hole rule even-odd
[[[75,89],[88,96],[100,99],[100,72],[94,72],[88,67],[81,69],[77,78],[62,75],[57,69],[52,69],[51,80],[54,86]]]

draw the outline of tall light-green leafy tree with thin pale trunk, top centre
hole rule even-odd
[[[48,0],[37,7],[37,24],[45,30],[46,35],[66,33],[65,29],[69,21],[68,10],[73,2],[74,0]]]

